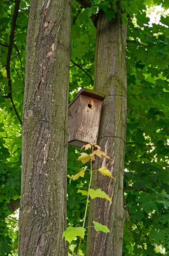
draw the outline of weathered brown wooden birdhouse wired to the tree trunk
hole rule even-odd
[[[103,99],[103,94],[83,88],[70,102],[69,145],[82,147],[86,143],[97,143]]]

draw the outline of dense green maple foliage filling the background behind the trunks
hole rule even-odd
[[[93,88],[96,29],[91,15],[102,9],[111,20],[117,12],[116,0],[90,2],[86,9],[75,0],[72,4],[70,101],[79,87]],[[160,4],[160,22],[149,25],[148,15]],[[123,256],[169,255],[169,16],[165,11],[169,1],[121,0],[120,8],[124,24],[131,17],[126,39],[129,115],[124,175],[124,207],[129,219],[124,228]],[[20,198],[21,179],[22,126],[8,97],[6,76],[13,12],[12,1],[0,1],[0,256],[17,255],[17,220],[7,207]],[[12,97],[21,119],[28,18],[29,1],[22,0],[10,59]],[[87,190],[83,177],[69,182],[83,168],[76,161],[78,152],[69,146],[68,226],[79,224],[86,206],[85,196],[77,194],[78,189]],[[86,238],[84,254],[85,244]]]

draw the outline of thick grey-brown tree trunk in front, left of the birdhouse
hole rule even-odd
[[[19,256],[66,256],[71,0],[32,0],[23,109]]]

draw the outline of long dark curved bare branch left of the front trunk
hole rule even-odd
[[[8,78],[8,86],[9,86],[9,91],[10,91],[8,93],[8,95],[6,96],[6,98],[11,99],[11,103],[12,103],[14,111],[17,115],[17,118],[19,119],[20,123],[22,124],[22,121],[20,119],[17,109],[14,105],[14,101],[12,99],[12,93],[11,93],[12,83],[11,83],[11,70],[10,70],[11,53],[12,53],[13,44],[14,44],[14,31],[15,31],[16,22],[17,22],[19,5],[20,5],[20,0],[15,0],[14,13],[13,13],[12,21],[11,21],[11,32],[10,32],[10,36],[9,36],[8,54],[7,54],[7,59],[6,59],[6,74],[7,74],[7,78]]]

